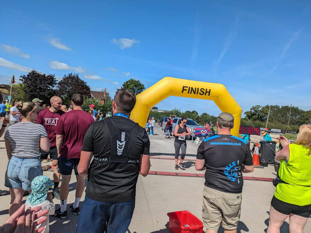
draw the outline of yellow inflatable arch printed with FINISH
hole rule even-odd
[[[222,112],[228,112],[234,116],[234,128],[231,129],[231,134],[239,136],[242,109],[225,86],[219,83],[165,77],[136,96],[136,104],[131,112],[131,118],[145,128],[150,109],[169,96],[214,101]]]

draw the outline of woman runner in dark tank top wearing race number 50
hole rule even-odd
[[[183,159],[186,156],[186,149],[187,149],[187,143],[186,143],[186,136],[191,135],[191,131],[188,126],[186,126],[187,118],[182,117],[178,125],[175,127],[175,141],[174,141],[174,147],[175,147],[175,169],[178,170],[179,167],[185,168],[183,165]],[[181,149],[181,157],[180,162],[178,164],[178,157],[179,157],[179,151]]]

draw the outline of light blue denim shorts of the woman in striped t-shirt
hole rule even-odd
[[[31,181],[36,176],[42,175],[40,156],[34,158],[12,156],[7,165],[4,186],[13,189],[31,190]]]

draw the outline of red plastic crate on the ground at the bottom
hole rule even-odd
[[[172,233],[202,233],[203,223],[188,210],[167,213],[169,231]],[[185,227],[185,224],[189,226]]]

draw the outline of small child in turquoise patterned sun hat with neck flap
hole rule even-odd
[[[48,194],[49,189],[54,186],[54,183],[46,176],[37,176],[31,181],[31,193],[25,203],[25,210],[29,207],[35,208],[41,206],[42,210],[49,210],[47,219],[37,226],[37,229],[44,227],[43,233],[48,233],[49,228],[49,215],[54,214],[55,205],[52,201],[52,195]],[[41,211],[42,211],[41,210]]]

